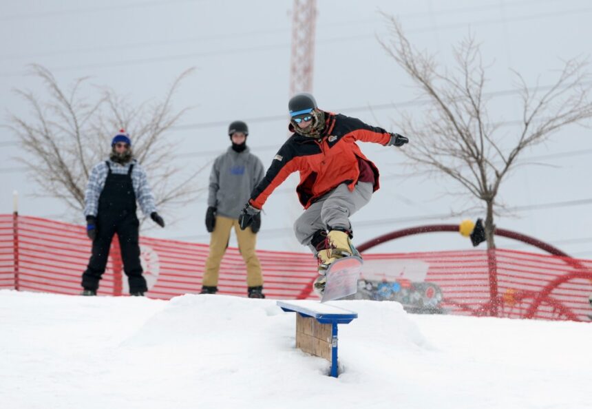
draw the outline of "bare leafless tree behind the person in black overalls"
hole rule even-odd
[[[43,81],[49,96],[42,99],[32,92],[15,90],[32,109],[32,116],[10,114],[10,128],[23,149],[32,154],[19,160],[28,165],[32,178],[49,196],[82,211],[89,173],[105,159],[106,147],[120,128],[131,135],[134,157],[147,169],[160,211],[166,213],[167,209],[187,204],[204,189],[195,178],[203,168],[182,174],[173,145],[167,143],[165,136],[189,109],[173,110],[172,98],[192,70],[173,81],[162,101],[132,106],[104,87],[99,88],[96,100],[81,96],[88,78],[78,78],[65,91],[47,68],[31,68],[32,74]],[[92,94],[97,94],[96,90]]]

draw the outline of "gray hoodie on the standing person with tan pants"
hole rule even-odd
[[[251,198],[251,191],[265,176],[263,164],[251,154],[249,147],[238,153],[229,147],[215,159],[210,174],[208,206],[218,215],[237,219]]]

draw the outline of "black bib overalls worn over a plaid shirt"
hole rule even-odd
[[[106,163],[109,173],[101,196],[98,198],[96,238],[92,242],[92,255],[88,268],[82,276],[82,286],[89,290],[98,289],[98,281],[101,280],[101,275],[105,273],[105,266],[107,266],[113,235],[117,233],[123,270],[129,282],[129,292],[145,292],[147,286],[142,276],[138,242],[140,222],[136,216],[136,194],[131,182],[131,171],[134,165],[129,166],[127,174],[114,174],[109,162]]]

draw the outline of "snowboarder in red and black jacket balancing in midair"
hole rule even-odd
[[[306,92],[293,96],[288,109],[288,129],[294,134],[279,149],[265,178],[251,193],[242,210],[240,227],[249,226],[273,190],[288,175],[299,171],[296,191],[305,210],[294,223],[294,231],[297,240],[317,257],[321,277],[315,287],[318,284],[322,291],[324,274],[332,262],[359,255],[351,242],[349,217],[379,189],[379,171],[356,141],[401,147],[409,140],[357,118],[323,111]]]

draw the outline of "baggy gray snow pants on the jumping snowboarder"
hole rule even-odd
[[[348,185],[341,183],[321,196],[297,218],[294,223],[297,240],[308,246],[316,255],[317,249],[310,245],[315,232],[329,226],[351,230],[349,217],[370,202],[373,191],[374,187],[369,182],[358,182],[354,191],[350,191]]]

